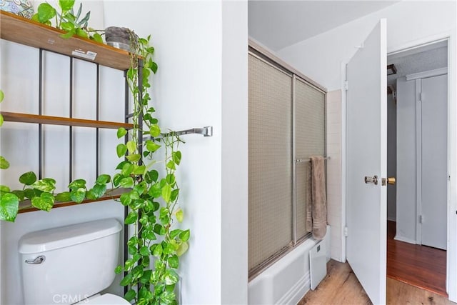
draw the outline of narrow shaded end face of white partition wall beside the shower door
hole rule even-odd
[[[222,3],[222,304],[248,301],[247,14],[247,1]]]

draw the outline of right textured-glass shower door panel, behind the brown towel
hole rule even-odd
[[[325,156],[325,94],[300,79],[295,83],[296,159]],[[296,163],[296,234],[303,239],[306,229],[307,201],[310,194],[310,162]]]

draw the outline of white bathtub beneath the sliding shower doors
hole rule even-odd
[[[330,226],[323,242],[330,259]],[[317,244],[307,239],[248,284],[248,304],[297,304],[310,289],[309,250]]]

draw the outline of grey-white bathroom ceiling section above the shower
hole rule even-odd
[[[278,51],[396,2],[248,0],[249,36]]]

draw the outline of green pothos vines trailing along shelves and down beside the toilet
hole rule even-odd
[[[81,31],[91,31],[86,27],[89,15],[84,17],[83,24],[77,22],[81,7],[75,16],[73,5],[74,1],[60,0],[61,12],[53,15],[49,14],[52,11],[49,4],[41,4],[38,16],[34,18],[48,24],[56,17],[58,27],[68,31],[69,36],[84,36]],[[66,23],[72,23],[74,27]],[[138,305],[177,304],[175,286],[179,275],[176,269],[179,268],[179,257],[189,248],[190,237],[189,229],[174,226],[175,221],[181,222],[184,218],[184,212],[178,206],[179,186],[176,182],[176,167],[181,163],[179,144],[183,141],[173,131],[162,134],[159,120],[154,116],[155,109],[150,106],[151,74],[157,71],[151,37],[137,38],[133,31],[129,34],[131,66],[126,79],[131,91],[133,129],[120,128],[117,131],[118,139],[127,139],[116,147],[117,156],[124,159],[117,164],[117,173],[112,178],[107,174],[98,176],[91,188],[86,186],[84,179],[76,179],[69,184],[69,191],[55,193],[54,179],[37,179],[36,174],[29,171],[19,177],[23,189],[11,191],[8,186],[0,186],[0,220],[14,221],[21,201],[29,200],[31,206],[50,211],[55,201],[81,203],[84,199],[99,199],[109,194],[108,184],[111,184],[111,189],[126,188],[128,191],[116,199],[129,207],[124,221],[133,228],[133,236],[126,241],[129,257],[115,270],[118,274],[124,271],[121,286],[128,287],[124,298],[135,300]],[[149,139],[140,139],[140,130]],[[164,158],[157,157],[159,152],[164,152]],[[0,161],[1,169],[9,166],[4,157],[1,156]],[[158,166],[161,164],[164,166],[160,170]]]

